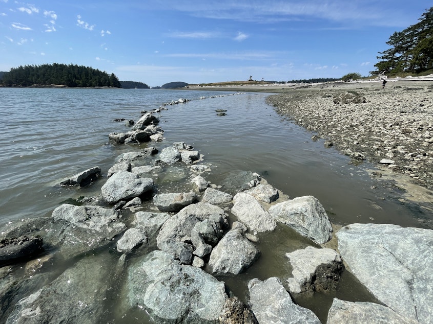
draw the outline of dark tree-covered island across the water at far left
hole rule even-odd
[[[5,86],[121,87],[113,73],[109,75],[92,67],[58,63],[11,68],[3,75],[1,83]]]

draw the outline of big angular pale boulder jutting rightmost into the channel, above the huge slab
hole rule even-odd
[[[323,244],[332,238],[332,225],[325,209],[313,196],[297,197],[270,207],[276,221],[292,227],[300,235]]]

